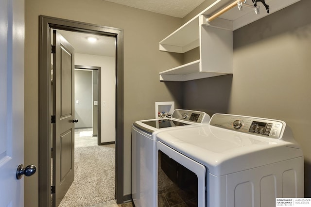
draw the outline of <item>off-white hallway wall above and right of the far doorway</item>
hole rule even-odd
[[[101,142],[115,142],[116,139],[116,58],[100,55],[75,53],[75,64],[101,67]],[[105,106],[103,106],[105,101]]]

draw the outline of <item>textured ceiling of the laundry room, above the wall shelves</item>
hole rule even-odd
[[[163,15],[184,17],[204,0],[105,0]]]

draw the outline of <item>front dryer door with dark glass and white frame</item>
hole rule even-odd
[[[206,206],[206,168],[164,143],[156,143],[157,206]]]

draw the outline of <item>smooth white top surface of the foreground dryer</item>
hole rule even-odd
[[[291,142],[212,126],[160,132],[157,141],[207,166],[216,176],[303,156]]]

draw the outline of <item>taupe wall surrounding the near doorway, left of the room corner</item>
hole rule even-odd
[[[154,117],[155,101],[175,101],[180,83],[159,81],[158,73],[180,64],[180,54],[159,51],[158,43],[182,19],[104,0],[25,1],[25,164],[38,163],[38,16],[54,16],[124,30],[124,194],[131,193],[131,126]],[[40,139],[47,139],[40,137]],[[38,169],[39,170],[39,169]],[[122,172],[120,172],[122,173]],[[25,179],[25,207],[38,206],[38,177]]]

